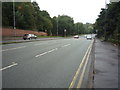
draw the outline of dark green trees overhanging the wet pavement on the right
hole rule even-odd
[[[120,40],[120,2],[110,3],[107,9],[102,9],[95,28],[98,30],[98,37],[112,41]]]

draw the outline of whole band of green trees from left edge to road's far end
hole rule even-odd
[[[51,18],[45,10],[41,11],[37,2],[15,2],[15,27],[24,30],[47,32],[48,35],[71,36],[93,32],[92,24],[74,23],[67,15]],[[3,27],[13,27],[13,2],[2,3]],[[112,22],[112,21],[111,21]],[[58,27],[57,27],[58,26]],[[65,31],[66,30],[66,31]]]

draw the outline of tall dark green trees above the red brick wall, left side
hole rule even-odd
[[[53,25],[47,11],[41,11],[37,2],[15,2],[15,27],[25,30],[48,31]],[[13,2],[2,3],[3,27],[13,27]]]

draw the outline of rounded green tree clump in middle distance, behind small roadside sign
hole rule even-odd
[[[57,23],[58,21],[58,23]],[[58,17],[53,17],[53,34],[57,35],[57,24],[58,24],[58,35],[72,35],[74,30],[74,20],[70,16],[62,15]],[[66,32],[65,32],[66,29]]]

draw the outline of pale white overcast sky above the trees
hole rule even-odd
[[[35,0],[40,10],[46,10],[51,17],[68,15],[75,22],[94,23],[105,0]],[[107,0],[107,3],[109,0]]]

